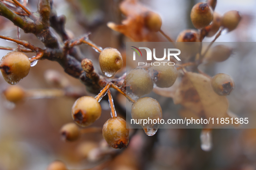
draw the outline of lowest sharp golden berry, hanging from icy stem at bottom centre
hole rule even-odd
[[[108,145],[113,148],[123,148],[129,143],[129,129],[126,121],[120,117],[112,117],[104,124],[102,135]]]

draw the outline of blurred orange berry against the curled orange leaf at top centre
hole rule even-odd
[[[159,16],[159,14],[154,13],[152,11],[148,11],[146,12],[146,15],[145,15],[145,24],[150,31],[154,31],[154,32],[160,31],[162,26],[161,16]]]

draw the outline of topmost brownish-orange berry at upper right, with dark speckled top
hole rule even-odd
[[[197,3],[191,9],[191,21],[195,28],[202,29],[213,20],[213,10],[207,3]]]

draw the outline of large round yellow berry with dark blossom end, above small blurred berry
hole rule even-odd
[[[95,98],[83,96],[73,104],[71,115],[78,125],[89,126],[100,118],[101,107]]]

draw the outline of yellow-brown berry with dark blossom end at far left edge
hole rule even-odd
[[[0,61],[3,78],[11,85],[15,85],[29,74],[29,58],[19,51],[8,53]]]

